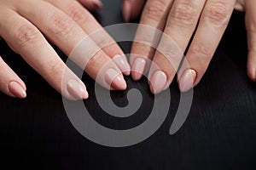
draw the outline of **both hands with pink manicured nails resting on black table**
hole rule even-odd
[[[84,82],[68,70],[50,41],[69,56],[73,48],[91,32],[102,29],[87,9],[102,8],[97,0],[0,0],[0,37],[10,48],[20,54],[26,62],[67,99],[87,99]],[[145,3],[145,6],[144,6]],[[83,6],[85,7],[83,7]],[[144,8],[143,8],[144,7]],[[87,8],[87,9],[86,9]],[[207,70],[218,42],[229,23],[233,9],[245,10],[248,33],[248,76],[256,81],[256,2],[254,0],[124,0],[125,21],[136,18],[143,10],[141,24],[164,31],[172,37],[182,50],[189,45],[186,59],[189,63],[178,72],[181,91],[193,88]],[[160,93],[171,84],[180,65],[182,56],[175,56],[172,47],[166,46],[166,39],[148,37],[140,27],[135,40],[147,37],[148,43],[135,41],[131,49],[131,67],[125,54],[113,39],[104,32],[100,38],[91,39],[98,44],[113,42],[99,50],[88,62],[84,71],[96,79],[101,68],[108,63],[99,83],[108,83],[111,89],[125,90],[123,77],[130,75],[139,80],[148,71],[152,93]],[[159,42],[155,50],[146,44]],[[86,49],[86,47],[84,47]],[[166,55],[160,53],[164,51]],[[84,50],[86,56],[86,50]],[[147,59],[152,59],[158,69],[150,67]],[[172,65],[169,61],[175,63]],[[79,60],[74,59],[79,65]],[[63,79],[64,71],[68,77]],[[25,98],[26,85],[14,71],[0,58],[0,90],[9,96]],[[102,81],[102,82],[101,82]],[[63,85],[64,84],[64,85]]]

